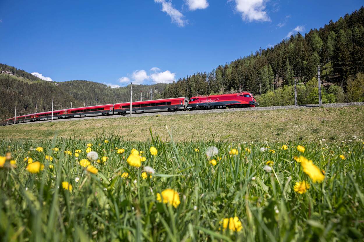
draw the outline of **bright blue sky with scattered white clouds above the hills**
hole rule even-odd
[[[0,1],[0,62],[53,81],[152,84],[210,72],[363,1]]]

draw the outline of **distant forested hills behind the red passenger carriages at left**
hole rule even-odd
[[[0,73],[0,112],[1,120],[14,117],[15,105],[17,116],[49,111],[54,109],[82,107],[98,104],[130,101],[130,86],[111,88],[105,84],[92,81],[73,80],[65,82],[49,82],[33,76],[31,73],[13,66],[0,64],[0,70],[11,74]],[[133,100],[161,98],[168,84],[133,85]],[[142,92],[142,93],[141,93]]]

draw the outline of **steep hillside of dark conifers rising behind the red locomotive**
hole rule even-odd
[[[318,65],[322,68],[325,88],[337,84],[347,92],[349,84],[364,91],[364,87],[360,87],[361,80],[357,78],[359,72],[364,72],[363,7],[340,17],[335,23],[331,20],[320,29],[311,29],[305,36],[297,33],[274,47],[260,48],[249,56],[219,65],[209,73],[195,73],[180,79],[168,87],[165,97],[191,97],[237,90],[260,95],[291,86],[294,79],[297,82],[311,80],[317,76]],[[361,91],[355,90],[355,93]],[[361,96],[354,95],[356,99],[363,98],[361,93]]]

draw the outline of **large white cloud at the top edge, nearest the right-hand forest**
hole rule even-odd
[[[236,11],[242,14],[243,20],[252,21],[270,21],[265,11],[265,2],[267,0],[235,0]]]

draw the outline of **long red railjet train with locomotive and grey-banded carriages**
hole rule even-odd
[[[132,113],[151,113],[163,111],[179,111],[186,109],[207,109],[207,108],[238,108],[257,105],[253,95],[249,92],[221,94],[212,96],[166,98],[148,101],[132,102]],[[82,108],[71,108],[53,111],[53,119],[101,116],[110,114],[130,114],[130,102],[88,106]],[[52,112],[41,112],[26,114],[16,117],[16,123],[51,120]],[[14,118],[1,121],[0,125],[14,124]]]

